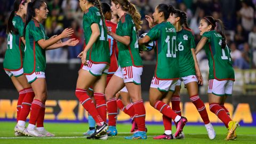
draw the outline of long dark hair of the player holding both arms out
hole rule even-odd
[[[40,7],[42,6],[43,3],[45,3],[44,0],[34,0],[34,1],[28,3],[27,17],[26,17],[26,22],[25,22],[24,30],[23,30],[24,38],[26,36],[26,27],[27,27],[29,21],[33,17],[36,17],[35,9],[40,9]]]

